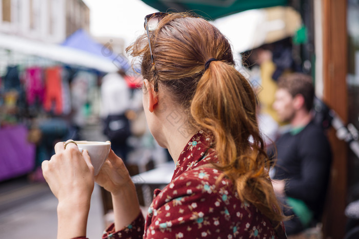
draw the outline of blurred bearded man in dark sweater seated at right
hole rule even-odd
[[[278,79],[273,108],[290,131],[275,142],[277,161],[271,175],[283,201],[288,235],[320,220],[331,163],[330,146],[322,128],[312,121],[314,88],[310,76],[293,73]]]

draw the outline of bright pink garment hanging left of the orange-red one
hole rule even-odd
[[[26,101],[29,105],[33,105],[35,103],[36,97],[39,103],[43,103],[45,88],[41,68],[31,67],[26,69],[25,89]]]

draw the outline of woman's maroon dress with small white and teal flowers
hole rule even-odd
[[[220,171],[201,167],[216,162],[210,144],[198,131],[179,156],[171,183],[154,191],[146,221],[140,213],[121,231],[112,224],[103,238],[279,238],[271,221],[242,202],[229,180],[215,184]]]

